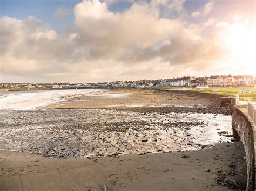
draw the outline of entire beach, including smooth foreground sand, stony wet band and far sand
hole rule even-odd
[[[41,107],[2,108],[1,188],[244,189],[230,113],[207,98],[152,89],[73,90]]]

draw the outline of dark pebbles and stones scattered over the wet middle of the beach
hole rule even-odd
[[[130,119],[132,115],[126,115],[130,111],[135,112],[138,120],[132,121]],[[0,115],[4,114],[2,118],[8,119],[8,123],[4,123],[6,125],[3,126],[3,129],[8,129],[9,126],[13,128],[13,124],[10,122],[14,122],[16,124],[14,128],[17,128],[15,133],[9,134],[10,141],[6,145],[8,149],[29,151],[33,154],[42,154],[45,157],[87,157],[92,159],[103,156],[118,157],[120,154],[170,152],[172,147],[167,140],[173,140],[183,151],[187,150],[188,146],[197,149],[198,146],[204,148],[205,145],[193,142],[197,136],[191,134],[190,130],[192,126],[197,126],[198,131],[203,130],[207,123],[200,120],[186,122],[176,118],[168,119],[170,112],[176,116],[179,115],[179,112],[222,114],[228,110],[214,107],[117,108],[111,110],[49,109],[47,111],[13,111],[10,114],[0,111]],[[160,119],[144,120],[145,117],[159,118],[160,114],[163,115],[160,116],[160,119],[164,117],[165,121]],[[92,119],[87,117],[90,115],[96,115],[98,119],[96,117],[93,120],[95,119],[97,122],[90,122]],[[113,115],[116,116],[113,117]],[[181,115],[187,116],[187,114]],[[127,119],[120,119],[120,116],[127,116]],[[25,122],[18,124],[21,117],[25,118]],[[38,125],[41,125],[41,129],[37,128]],[[157,132],[158,130],[161,132]],[[200,132],[205,133],[205,131]],[[23,144],[18,144],[18,142]],[[142,142],[145,143],[142,144]],[[140,148],[142,145],[144,148]]]

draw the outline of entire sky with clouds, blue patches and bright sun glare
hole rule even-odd
[[[0,0],[0,82],[256,76],[255,0]]]

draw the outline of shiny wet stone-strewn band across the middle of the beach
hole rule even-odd
[[[197,150],[235,140],[230,115],[170,109],[0,110],[0,148],[93,158]]]

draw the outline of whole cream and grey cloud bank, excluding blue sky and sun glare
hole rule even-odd
[[[111,12],[105,2],[84,0],[73,10],[72,27],[62,32],[32,16],[1,17],[0,75],[10,81],[30,76],[41,81],[95,82],[217,70],[216,62],[227,54],[218,34],[226,23],[215,18],[191,23],[161,17],[161,6],[182,12],[183,4],[143,1]],[[213,6],[206,5],[207,10]],[[205,36],[209,28],[211,34]]]

